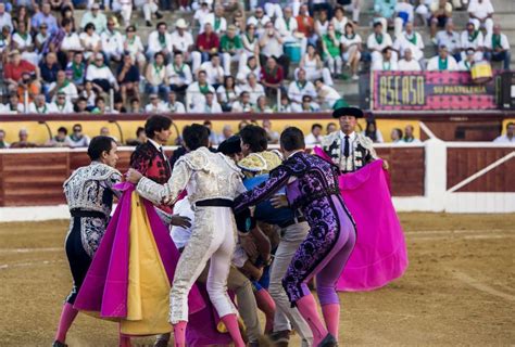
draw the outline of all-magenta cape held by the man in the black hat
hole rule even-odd
[[[330,160],[319,147],[314,152]],[[356,223],[357,239],[337,290],[359,292],[385,286],[406,270],[407,250],[382,160],[341,175],[339,181],[343,202]]]

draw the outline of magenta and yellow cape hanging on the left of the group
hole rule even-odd
[[[168,333],[169,288],[179,252],[153,205],[134,184],[123,191],[104,237],[80,287],[75,308],[121,323],[125,335]],[[202,310],[197,286],[189,294],[190,313]]]

